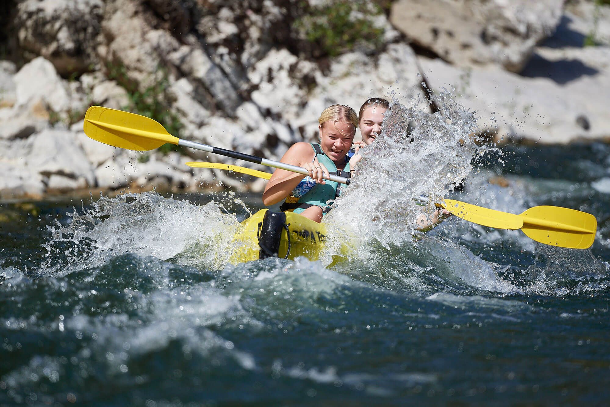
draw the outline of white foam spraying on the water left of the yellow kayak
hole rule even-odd
[[[209,202],[203,206],[156,193],[101,197],[71,222],[57,222],[46,244],[47,266],[59,273],[102,265],[124,253],[159,259],[196,252],[200,263],[220,266],[239,226],[235,216]]]

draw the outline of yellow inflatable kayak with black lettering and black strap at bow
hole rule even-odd
[[[235,251],[231,263],[280,257],[299,256],[318,260],[328,241],[326,225],[293,212],[263,209],[242,222],[235,233]],[[341,254],[348,248],[342,246]]]

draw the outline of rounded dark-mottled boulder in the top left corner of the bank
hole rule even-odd
[[[82,73],[97,63],[102,0],[24,0],[17,5],[20,46],[50,60],[60,75]]]

